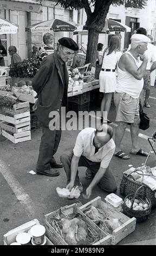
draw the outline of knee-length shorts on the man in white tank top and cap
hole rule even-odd
[[[133,124],[140,120],[139,98],[134,99],[127,93],[114,93],[114,104],[116,107],[116,122]]]

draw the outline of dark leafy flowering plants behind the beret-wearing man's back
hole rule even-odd
[[[9,76],[11,77],[29,77],[32,78],[37,73],[41,62],[39,59],[24,59],[10,66]]]

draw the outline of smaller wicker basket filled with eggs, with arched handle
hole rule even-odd
[[[128,196],[125,197],[125,199],[124,199],[124,204],[122,205],[123,213],[130,218],[135,217],[137,219],[137,223],[147,220],[147,218],[151,214],[151,206],[152,206],[150,198],[142,197],[140,195],[139,190],[141,188],[145,189],[146,187],[142,185],[138,188],[138,190],[135,193],[128,194]],[[126,199],[131,200],[131,203],[132,203],[131,208],[128,208],[128,206],[126,204]],[[142,210],[142,211],[133,210],[132,207],[133,207],[134,199],[142,200],[142,202],[144,201],[144,203],[148,204],[148,208],[146,210]]]

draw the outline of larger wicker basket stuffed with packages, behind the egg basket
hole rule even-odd
[[[137,172],[135,170],[134,172]],[[140,172],[140,170],[139,170]],[[130,173],[131,174],[131,173]],[[123,196],[127,196],[128,194],[135,193],[137,189],[142,185],[140,182],[133,180],[129,175],[123,173],[123,177],[120,184],[120,193]],[[139,173],[140,174],[140,173]],[[150,176],[150,175],[149,175]],[[142,197],[148,197],[151,200],[152,208],[156,207],[156,190],[152,191],[150,187],[144,185],[144,187],[141,187],[139,194]]]

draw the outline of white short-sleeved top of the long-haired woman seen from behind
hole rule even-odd
[[[115,69],[116,63],[122,55],[121,51],[113,51],[111,54],[107,55],[108,50],[105,52],[103,57],[102,69]]]

